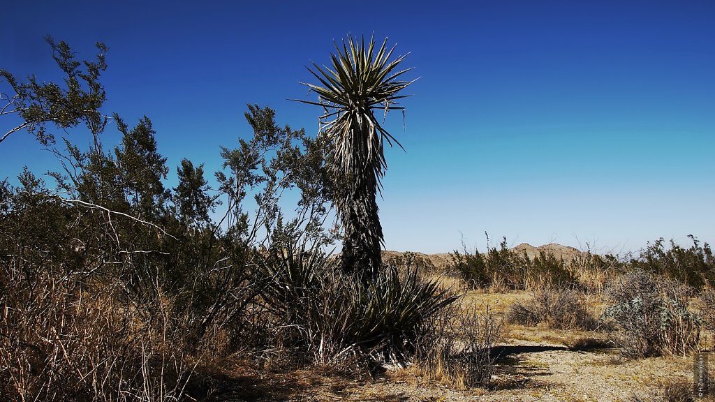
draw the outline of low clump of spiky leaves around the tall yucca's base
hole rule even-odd
[[[365,282],[319,250],[294,250],[265,261],[270,280],[261,296],[277,320],[275,339],[306,363],[403,362],[431,316],[455,300],[414,268],[385,268]]]

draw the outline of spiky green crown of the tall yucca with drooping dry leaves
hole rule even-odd
[[[388,110],[404,110],[397,101],[408,95],[399,92],[413,82],[400,80],[411,70],[398,69],[407,55],[390,61],[395,46],[388,49],[387,42],[385,39],[378,49],[373,38],[365,44],[365,38],[358,41],[348,36],[342,46],[335,43],[337,52],[330,55],[330,67],[312,63],[313,68],[308,68],[320,84],[302,83],[318,94],[318,102],[297,99],[325,109],[320,132],[330,137],[333,157],[352,182],[370,169],[379,183],[386,167],[383,139],[401,147],[374,114],[383,110],[384,117]]]

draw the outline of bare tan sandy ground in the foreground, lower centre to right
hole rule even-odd
[[[461,303],[488,305],[501,319],[527,292],[471,291]],[[598,301],[594,301],[598,308]],[[704,334],[703,342],[711,342]],[[375,377],[349,378],[335,368],[225,371],[220,401],[663,401],[664,387],[691,384],[692,357],[627,360],[615,348],[581,346],[607,333],[503,325],[500,357],[489,388],[455,389],[425,379],[415,367],[389,368]],[[606,342],[607,343],[607,342]],[[337,370],[339,371],[339,370]]]

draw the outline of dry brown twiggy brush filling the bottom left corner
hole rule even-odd
[[[115,283],[5,265],[0,401],[167,401],[194,366],[170,329],[170,301],[148,311]],[[28,268],[28,267],[24,267]],[[152,303],[157,305],[157,303]]]

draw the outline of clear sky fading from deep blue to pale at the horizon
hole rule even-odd
[[[637,250],[715,242],[715,1],[11,1],[0,67],[56,79],[51,34],[79,57],[109,46],[105,112],[154,122],[171,174],[220,168],[247,103],[317,131],[305,65],[374,34],[420,77],[387,127],[380,217],[390,250],[559,242]],[[0,84],[1,86],[2,84]],[[2,87],[3,89],[6,87]],[[0,117],[0,129],[9,129]],[[110,130],[114,132],[114,130]],[[109,145],[119,137],[107,135]],[[71,137],[87,141],[82,134]],[[0,177],[52,157],[24,132]],[[169,180],[175,180],[170,177]]]

